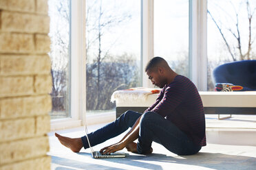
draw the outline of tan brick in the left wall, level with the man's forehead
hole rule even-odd
[[[0,55],[0,75],[49,74],[50,69],[47,55]]]

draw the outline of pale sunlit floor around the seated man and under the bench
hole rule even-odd
[[[217,117],[207,117],[208,120],[217,120]],[[234,116],[225,122],[248,121],[255,123],[256,117],[252,116]],[[221,123],[225,123],[221,122]],[[88,131],[92,132],[105,124],[89,125]],[[220,123],[218,124],[220,125]],[[69,130],[60,130],[58,133],[69,137],[83,136],[83,127],[77,127]],[[256,147],[255,146],[237,146],[237,145],[219,145],[208,143],[203,147],[200,153],[193,156],[177,156],[157,143],[153,143],[153,154],[142,156],[132,154],[124,149],[127,158],[109,158],[94,159],[89,149],[82,149],[76,154],[61,145],[54,132],[50,132],[50,152],[52,156],[52,169],[255,169],[256,167]],[[120,140],[122,135],[112,138],[103,144],[94,147],[95,150],[101,149]]]

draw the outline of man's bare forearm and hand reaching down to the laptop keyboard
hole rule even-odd
[[[122,138],[121,141],[115,143],[114,145],[110,145],[108,147],[100,149],[100,152],[103,152],[103,154],[110,154],[115,151],[122,150],[129,143],[135,141],[138,138],[138,134],[140,131],[140,118],[141,116],[137,119],[136,123],[134,123],[133,127],[131,127],[131,130],[129,130],[129,132]]]

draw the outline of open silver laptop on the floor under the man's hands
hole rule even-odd
[[[92,158],[125,158],[125,152],[121,152],[121,151],[116,151],[111,154],[103,154],[100,151],[94,151],[91,144],[89,143],[88,130],[87,130],[86,123],[85,123],[85,135],[89,144],[89,149],[91,150],[91,153],[92,153]]]

